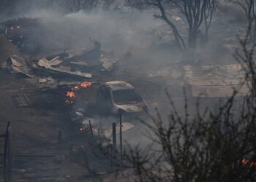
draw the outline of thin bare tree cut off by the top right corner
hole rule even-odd
[[[252,27],[249,32],[249,37],[252,41],[256,40],[256,11],[255,11],[255,0],[227,0],[233,4],[238,5],[241,9],[244,10],[244,14],[246,15],[247,22],[249,26]]]

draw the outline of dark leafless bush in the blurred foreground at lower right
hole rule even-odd
[[[250,30],[249,30],[250,31]],[[255,46],[249,44],[249,31],[241,39],[242,52],[236,52],[236,59],[244,70],[241,87],[248,86],[243,96],[241,113],[234,116],[234,101],[238,90],[227,99],[216,113],[205,108],[189,116],[187,98],[184,113],[179,113],[167,92],[171,112],[168,120],[151,116],[152,123],[142,121],[148,127],[148,138],[153,142],[150,148],[131,149],[124,164],[135,170],[138,181],[197,181],[197,182],[252,182],[256,180],[256,103]],[[186,94],[185,94],[186,95]],[[158,147],[157,147],[158,146]]]

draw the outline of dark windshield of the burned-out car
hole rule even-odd
[[[118,104],[125,103],[138,103],[142,99],[135,90],[114,90],[113,91],[113,100]]]

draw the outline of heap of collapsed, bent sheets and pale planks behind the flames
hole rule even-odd
[[[73,82],[91,80],[94,74],[113,71],[116,63],[113,53],[102,51],[99,42],[95,41],[94,46],[86,50],[68,50],[34,61],[12,55],[0,67],[12,74],[35,78],[42,86],[56,87],[63,79]]]

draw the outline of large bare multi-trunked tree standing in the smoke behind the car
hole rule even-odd
[[[170,25],[176,44],[180,50],[187,50],[187,48],[195,49],[200,27],[203,23],[206,25],[205,33],[207,33],[206,40],[208,40],[208,29],[211,26],[216,0],[146,0],[146,2],[160,10],[160,15],[154,15],[154,17],[165,20]],[[165,6],[166,3],[173,4],[186,18],[189,26],[187,44],[184,41],[184,37],[179,33],[175,23],[173,23],[173,20],[167,15],[166,9],[168,6]]]

